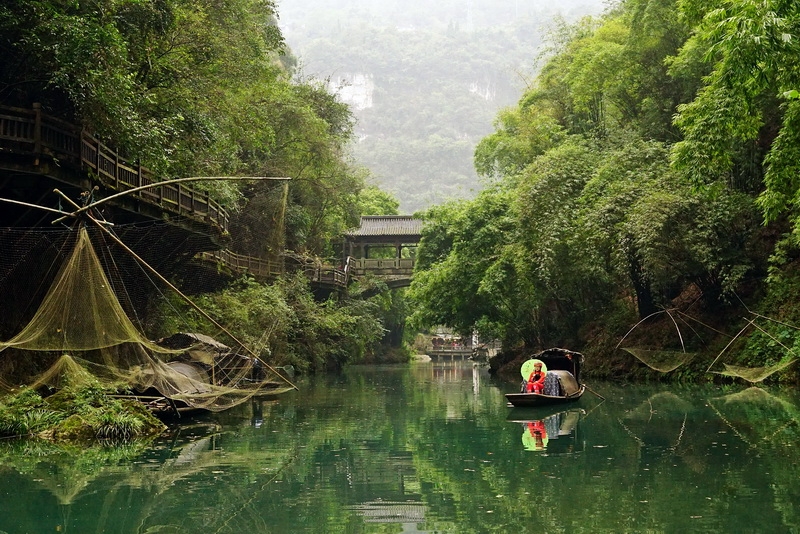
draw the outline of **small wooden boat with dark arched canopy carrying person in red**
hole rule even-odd
[[[545,371],[544,388],[540,393],[527,392],[527,380],[536,363]],[[583,354],[567,349],[552,348],[536,354],[522,364],[520,393],[507,393],[509,407],[535,407],[575,402],[583,396],[586,386],[580,383]]]

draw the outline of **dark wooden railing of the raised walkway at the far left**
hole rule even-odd
[[[55,158],[59,164],[71,163],[95,174],[106,187],[118,192],[159,180],[145,167],[122,159],[116,152],[77,126],[32,110],[0,106],[0,148],[5,152],[30,154],[36,165],[41,156]],[[163,210],[228,229],[228,215],[207,192],[180,184],[170,184],[131,193]]]

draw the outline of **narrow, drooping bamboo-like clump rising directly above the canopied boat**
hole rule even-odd
[[[563,338],[597,311],[597,301],[607,302],[605,277],[579,241],[579,200],[601,157],[595,143],[573,138],[537,158],[519,178],[513,204],[517,270],[525,280],[525,302],[535,310],[528,341]]]

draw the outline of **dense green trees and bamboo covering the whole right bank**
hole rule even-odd
[[[427,213],[418,324],[635,362],[624,338],[679,376],[785,368],[800,343],[798,4],[625,0],[554,37],[476,149],[493,185]]]

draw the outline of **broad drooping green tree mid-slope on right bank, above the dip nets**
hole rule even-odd
[[[581,198],[587,249],[636,296],[641,318],[690,284],[730,296],[756,267],[753,199],[695,190],[669,166],[669,147],[635,139],[609,147]]]

